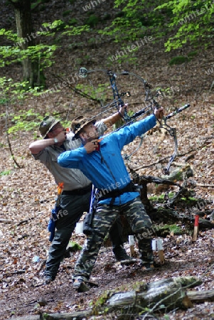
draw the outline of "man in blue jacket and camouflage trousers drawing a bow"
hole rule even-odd
[[[163,108],[155,109],[149,117],[100,138],[97,137],[95,120],[83,119],[74,129],[75,137],[82,140],[82,146],[65,151],[58,157],[60,166],[80,169],[99,190],[92,221],[93,233],[87,237],[73,274],[73,287],[79,292],[89,289],[85,282],[90,278],[103,239],[121,213],[127,216],[137,237],[141,264],[146,270],[154,268],[151,220],[141,203],[139,192],[134,188],[121,150],[154,127],[156,118],[161,117]]]

